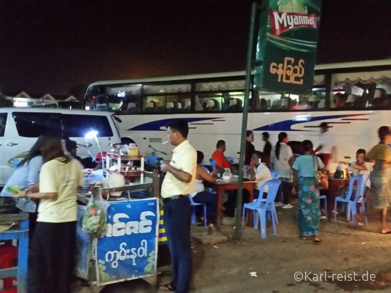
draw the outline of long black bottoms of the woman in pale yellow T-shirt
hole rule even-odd
[[[27,273],[27,293],[70,293],[76,221],[37,222]]]

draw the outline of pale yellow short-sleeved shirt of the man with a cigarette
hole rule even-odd
[[[197,152],[195,148],[190,145],[188,140],[185,140],[179,146],[174,148],[170,165],[191,174],[192,181],[190,183],[179,181],[173,174],[167,172],[162,184],[162,197],[167,198],[175,195],[186,195],[191,193],[195,182]]]

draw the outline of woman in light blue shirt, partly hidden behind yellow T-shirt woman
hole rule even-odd
[[[42,148],[46,144],[47,135],[42,134],[38,137],[34,146],[28,151],[26,157],[18,164],[18,167],[8,179],[0,196],[12,196],[7,190],[10,186],[19,188],[33,188],[38,183],[42,167]],[[29,237],[32,237],[37,220],[37,204],[35,201],[26,198],[20,198],[16,204],[17,208],[29,213]]]

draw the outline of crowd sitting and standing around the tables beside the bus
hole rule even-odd
[[[289,139],[285,132],[278,135],[278,142],[272,146],[269,142],[269,134],[262,133],[265,142],[263,151],[257,151],[254,142],[254,133],[247,131],[244,154],[244,175],[250,180],[257,181],[254,191],[254,199],[259,196],[261,184],[272,178],[271,171],[277,171],[281,180],[280,189],[276,196],[275,205],[283,209],[293,208],[292,195],[298,196],[298,226],[300,236],[303,239],[311,236],[315,243],[320,243],[319,222],[326,218],[326,211],[321,207],[320,195],[328,196],[328,165],[332,155],[336,152],[336,144],[328,131],[326,123],[320,124],[320,144],[314,147],[312,142],[304,140],[301,143],[302,155],[294,158],[292,148],[288,145]],[[348,165],[349,176],[359,174],[370,175],[366,182],[365,198],[371,206],[381,209],[382,233],[391,233],[387,226],[387,209],[391,203],[391,134],[388,126],[379,129],[380,143],[374,146],[368,153],[364,149],[358,149],[355,162],[340,162]],[[212,159],[216,162],[217,170],[231,168],[235,171],[235,164],[225,156],[225,142],[219,140]],[[200,173],[197,175],[197,188],[194,188],[191,196],[194,202],[205,204],[209,222],[216,220],[216,196],[205,190],[202,180],[213,182],[216,180],[216,172],[208,173],[202,167],[203,153],[197,151],[197,164]],[[198,172],[197,172],[198,174]],[[202,180],[201,180],[202,179]],[[202,188],[200,188],[202,186]],[[202,193],[198,190],[202,189]],[[264,190],[267,192],[267,190]],[[199,193],[198,193],[199,192]],[[200,196],[197,196],[197,195]],[[341,196],[348,194],[348,187],[340,191]],[[262,195],[261,195],[262,196]],[[265,195],[263,195],[265,196]],[[243,190],[243,203],[249,201],[247,190]],[[228,200],[222,207],[226,216],[234,216],[236,209],[236,192],[228,196]],[[200,213],[201,214],[201,213]]]

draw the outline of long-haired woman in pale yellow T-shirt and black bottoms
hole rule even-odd
[[[39,192],[18,197],[39,199],[37,227],[31,245],[29,293],[70,293],[75,255],[77,189],[83,184],[81,164],[66,157],[61,135],[49,134],[41,148]]]

